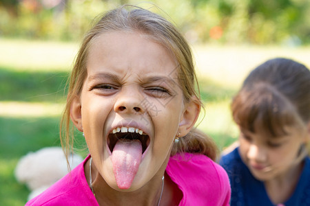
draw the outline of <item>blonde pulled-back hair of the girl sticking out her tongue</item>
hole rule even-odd
[[[134,8],[126,10],[125,8]],[[105,32],[136,31],[141,32],[153,41],[163,45],[178,61],[178,81],[183,91],[184,101],[196,100],[201,105],[200,95],[195,90],[197,84],[192,52],[187,41],[176,30],[176,27],[158,14],[143,8],[122,6],[107,12],[98,23],[86,34],[76,56],[75,64],[70,76],[67,104],[61,119],[61,145],[68,157],[73,149],[73,126],[70,126],[70,105],[76,95],[81,93],[83,80],[87,76],[86,61],[90,46],[94,39]],[[198,86],[198,84],[197,84]],[[63,130],[63,134],[62,134]],[[214,141],[198,131],[192,129],[185,137],[174,144],[171,155],[180,152],[198,152],[215,160],[217,148]]]

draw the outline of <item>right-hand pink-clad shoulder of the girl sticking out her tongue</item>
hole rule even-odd
[[[225,201],[228,204],[230,185],[227,173],[209,157],[190,153],[176,155],[170,158],[166,171],[189,198],[198,200],[203,196],[209,203],[214,201],[210,205],[226,205]]]

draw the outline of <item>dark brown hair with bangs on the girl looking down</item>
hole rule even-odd
[[[285,135],[285,126],[310,120],[310,71],[286,58],[274,58],[256,67],[231,104],[236,124],[243,130]]]

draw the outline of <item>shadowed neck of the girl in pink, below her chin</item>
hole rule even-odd
[[[85,176],[88,183],[90,182],[89,161],[85,164]],[[161,198],[162,177],[165,169],[161,169],[146,185],[133,192],[121,192],[107,185],[98,170],[96,170],[94,163],[92,163],[91,172],[92,187],[99,205],[158,205],[158,201]]]

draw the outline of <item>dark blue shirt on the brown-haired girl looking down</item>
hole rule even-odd
[[[238,148],[220,159],[231,184],[231,206],[274,206],[271,203],[264,183],[258,181],[242,162]],[[310,160],[304,159],[304,168],[296,190],[283,203],[285,206],[310,205]]]

